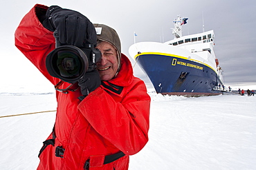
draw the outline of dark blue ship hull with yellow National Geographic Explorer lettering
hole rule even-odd
[[[209,65],[160,53],[140,54],[136,60],[157,93],[183,96],[221,94],[220,90],[215,90],[220,80]]]

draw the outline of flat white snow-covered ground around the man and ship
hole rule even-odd
[[[129,169],[256,169],[256,96],[149,95],[149,142]],[[0,116],[50,111],[0,118],[0,169],[36,169],[55,121],[54,90],[8,86],[0,103]]]

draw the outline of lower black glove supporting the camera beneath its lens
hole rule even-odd
[[[97,87],[101,85],[100,74],[98,70],[93,70],[92,72],[86,72],[82,78],[78,81],[81,93],[79,99],[83,100],[90,92],[93,92]]]

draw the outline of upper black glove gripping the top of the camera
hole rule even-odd
[[[41,21],[44,28],[52,32],[57,30],[60,43],[77,47],[83,47],[85,43],[96,45],[97,35],[93,23],[80,12],[51,6],[45,15],[39,20],[44,19]]]

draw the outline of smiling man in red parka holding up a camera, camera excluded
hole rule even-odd
[[[48,73],[45,62],[55,49],[53,31],[59,33],[60,43],[91,43],[102,53],[97,70],[86,72],[77,90],[56,92],[55,127],[39,151],[39,170],[128,169],[129,155],[148,141],[150,98],[145,83],[133,76],[116,31],[94,26],[102,30],[97,37],[79,12],[37,4],[15,32],[15,45],[53,85],[60,79]]]

